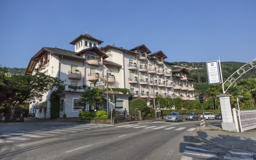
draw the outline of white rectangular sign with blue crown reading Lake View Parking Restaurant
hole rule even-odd
[[[218,60],[206,62],[209,84],[220,83],[220,72]]]

